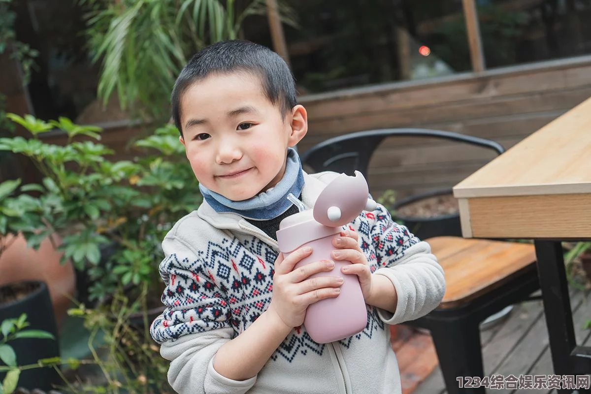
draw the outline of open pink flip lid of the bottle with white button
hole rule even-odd
[[[326,185],[314,203],[314,220],[324,226],[344,226],[363,210],[375,209],[375,201],[368,196],[368,184],[361,172],[355,171],[353,177],[340,174]]]

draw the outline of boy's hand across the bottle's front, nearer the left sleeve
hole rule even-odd
[[[339,295],[342,279],[337,276],[309,278],[319,272],[330,271],[332,261],[316,261],[294,270],[294,266],[311,254],[311,249],[300,248],[284,259],[279,253],[275,260],[273,295],[268,311],[274,312],[290,328],[304,323],[306,308],[314,302]]]

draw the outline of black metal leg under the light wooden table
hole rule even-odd
[[[570,353],[576,341],[563,250],[560,242],[534,243],[554,374],[573,375]],[[558,390],[558,393],[569,392]]]

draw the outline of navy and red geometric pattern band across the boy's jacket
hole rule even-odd
[[[348,228],[359,234],[371,272],[395,265],[404,251],[418,242],[404,226],[392,222],[381,205],[363,211]],[[278,252],[255,236],[224,238],[208,242],[198,256],[171,254],[160,264],[167,288],[162,295],[164,313],[154,320],[151,334],[162,343],[190,333],[232,328],[238,336],[267,310],[272,296],[274,262]],[[375,308],[368,308],[368,324],[355,336],[339,341],[349,347],[352,340],[371,338],[385,330]],[[271,357],[291,362],[298,354],[322,355],[324,345],[313,341],[304,327],[297,327]]]

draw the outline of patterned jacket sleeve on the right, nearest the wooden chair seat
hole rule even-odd
[[[434,310],[445,293],[445,277],[431,246],[395,223],[388,210],[378,204],[366,212],[368,233],[375,251],[378,269],[394,285],[398,304],[394,314],[378,310],[387,324],[415,320]]]

